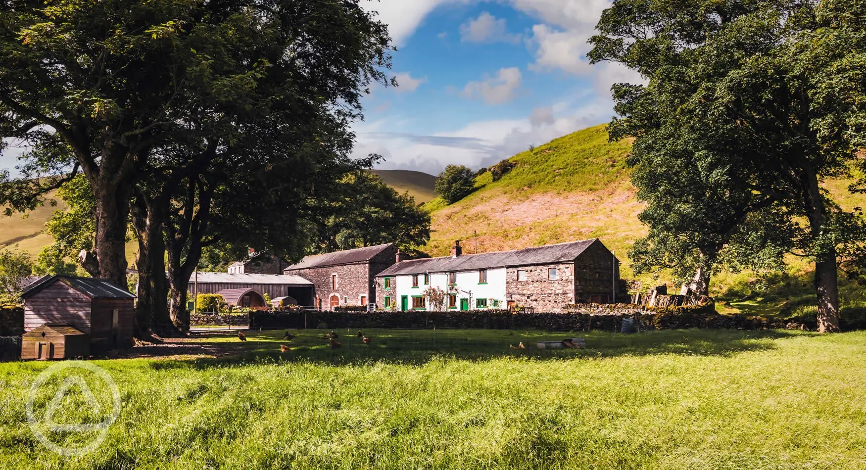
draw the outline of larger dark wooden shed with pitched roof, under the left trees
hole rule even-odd
[[[110,280],[44,276],[25,288],[21,298],[25,334],[40,326],[66,325],[87,335],[90,353],[134,344],[135,296]]]

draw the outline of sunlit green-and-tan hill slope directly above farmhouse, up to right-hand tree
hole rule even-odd
[[[642,205],[625,164],[630,143],[609,143],[604,127],[515,155],[514,169],[495,183],[489,172],[477,177],[477,190],[458,203],[427,203],[434,232],[425,249],[443,255],[462,240],[472,253],[475,231],[479,253],[598,237],[624,259],[645,232],[637,222]]]

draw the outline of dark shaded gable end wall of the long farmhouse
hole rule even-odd
[[[592,243],[574,262],[574,292],[577,302],[612,302],[614,275],[619,279],[619,266],[616,272],[613,254],[600,241]],[[617,282],[618,284],[618,282]],[[619,287],[616,287],[617,289]],[[617,293],[618,294],[618,293]]]

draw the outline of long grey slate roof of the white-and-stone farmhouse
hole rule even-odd
[[[475,271],[492,267],[530,266],[574,261],[598,238],[581,241],[568,241],[544,247],[523,248],[511,251],[498,251],[481,254],[462,254],[456,258],[443,256],[399,262],[376,277],[397,276],[401,274],[451,273],[456,271]],[[600,243],[600,241],[598,241]]]

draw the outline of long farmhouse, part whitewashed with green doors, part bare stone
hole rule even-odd
[[[456,241],[451,256],[398,262],[376,284],[383,306],[400,311],[434,310],[423,292],[439,287],[446,309],[562,312],[578,302],[613,302],[618,280],[619,261],[598,239],[465,255]]]

